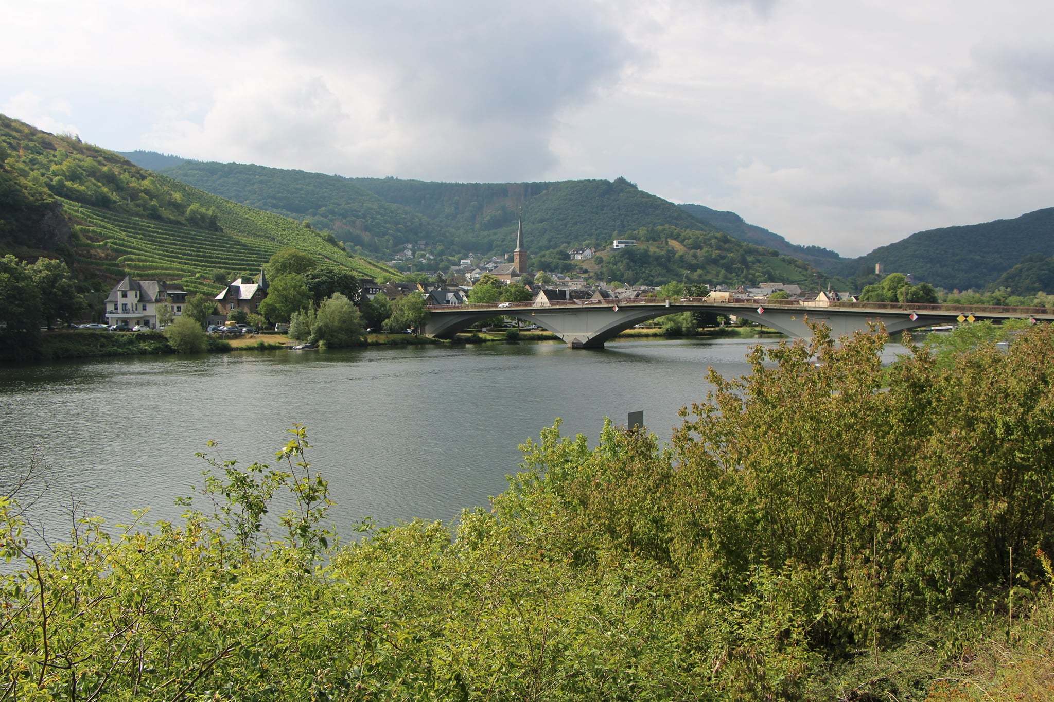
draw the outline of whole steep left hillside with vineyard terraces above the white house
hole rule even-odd
[[[394,272],[332,235],[144,171],[76,137],[0,115],[0,253],[60,255],[82,278],[132,274],[216,289],[212,272],[255,273],[279,248],[363,276]]]

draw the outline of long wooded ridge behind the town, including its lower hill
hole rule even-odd
[[[589,268],[596,268],[599,277],[630,284],[775,280],[815,286],[825,278],[784,256],[780,247],[804,252],[814,260],[837,260],[834,252],[794,246],[733,213],[702,207],[722,225],[705,223],[688,208],[645,193],[624,178],[444,183],[197,161],[178,163],[163,173],[254,207],[305,219],[375,254],[393,254],[404,243],[424,241],[435,255],[432,265],[440,268],[470,252],[483,256],[510,252],[521,206],[531,260],[546,270],[570,272],[578,264],[567,261],[567,248],[588,244],[604,249],[614,238],[647,243],[610,252],[599,266]],[[767,237],[758,236],[759,232]],[[741,241],[746,235],[754,241]]]

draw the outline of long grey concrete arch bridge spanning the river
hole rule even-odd
[[[805,324],[824,322],[834,337],[865,330],[881,322],[890,335],[907,329],[958,321],[1032,319],[1054,321],[1046,307],[995,307],[883,302],[803,302],[800,300],[745,300],[726,302],[704,298],[642,298],[636,300],[569,300],[534,306],[530,302],[431,305],[425,334],[452,339],[458,332],[490,317],[522,319],[552,332],[571,348],[603,348],[604,342],[636,324],[682,312],[735,315],[793,338],[809,338]],[[959,318],[962,318],[960,320]]]

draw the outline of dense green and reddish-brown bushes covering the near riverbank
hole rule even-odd
[[[5,499],[0,696],[1048,697],[1054,330],[890,368],[884,341],[758,347],[666,447],[558,422],[455,526],[337,542],[302,427],[212,460],[177,523],[48,553]]]

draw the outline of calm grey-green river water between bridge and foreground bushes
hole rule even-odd
[[[518,444],[564,420],[591,442],[605,416],[643,409],[668,440],[678,409],[705,398],[706,370],[747,373],[765,340],[624,341],[604,350],[562,343],[242,352],[0,365],[0,488],[36,455],[50,487],[31,515],[62,538],[71,498],[110,523],[201,484],[196,452],[272,462],[294,422],[329,480],[339,530],[449,520],[486,505],[518,469]],[[893,357],[895,348],[886,354]]]

